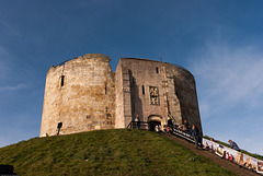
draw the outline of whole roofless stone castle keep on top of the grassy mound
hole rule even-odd
[[[146,130],[187,120],[202,132],[194,77],[186,69],[148,59],[87,54],[46,75],[41,137],[126,128],[139,115]]]

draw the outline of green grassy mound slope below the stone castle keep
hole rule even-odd
[[[0,164],[31,175],[233,175],[156,132],[115,129],[34,138],[0,149]]]

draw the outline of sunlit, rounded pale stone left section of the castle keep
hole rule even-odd
[[[88,54],[49,69],[41,137],[114,128],[110,60],[101,54]]]

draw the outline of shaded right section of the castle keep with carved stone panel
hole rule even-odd
[[[159,117],[162,126],[170,117],[179,125],[186,119],[202,131],[195,81],[191,72],[171,63],[134,58],[122,58],[117,67],[122,71],[116,72],[116,77],[128,75],[123,78],[122,89],[116,86],[116,92],[127,94],[122,102],[124,114],[125,108],[126,114],[129,112],[129,116],[124,116],[125,126],[138,114],[141,121],[148,122],[151,117]],[[122,117],[116,115],[116,118]]]

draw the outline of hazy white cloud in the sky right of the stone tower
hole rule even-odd
[[[262,153],[263,51],[254,45],[233,47],[209,43],[194,55],[204,134],[232,139],[252,153]],[[251,145],[251,143],[254,143]]]

